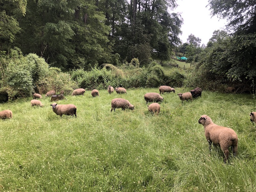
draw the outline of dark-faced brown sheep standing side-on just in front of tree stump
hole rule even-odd
[[[60,117],[62,117],[62,115],[76,116],[76,106],[73,104],[57,105],[57,103],[52,103],[50,106],[52,106],[52,111]]]

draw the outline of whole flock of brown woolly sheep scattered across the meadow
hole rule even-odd
[[[123,87],[117,87],[115,88],[116,93],[127,93],[126,89]],[[72,96],[75,95],[84,95],[85,90],[80,88],[80,89],[75,89],[72,92]],[[108,86],[108,93],[111,94],[114,92],[114,88],[112,86]],[[170,86],[160,86],[159,87],[159,92],[160,94],[164,94],[164,92],[170,93],[174,92],[175,90],[170,87]],[[45,94],[45,97],[51,96],[51,101],[53,100],[62,100],[65,99],[63,96],[64,91],[61,91],[59,95],[56,95],[56,92],[54,90],[51,90]],[[150,105],[148,105],[148,111],[151,113],[155,113],[156,115],[159,114],[160,112],[160,105],[157,102],[162,102],[164,100],[163,97],[161,97],[159,93],[155,92],[150,92],[146,93],[144,95],[144,99],[146,100],[146,103],[148,102],[153,102]],[[183,102],[184,100],[193,100],[193,98],[196,97],[201,97],[202,90],[197,87],[190,92],[185,92],[185,93],[178,93],[178,96],[180,100]],[[92,97],[99,96],[99,91],[94,89],[91,92]],[[31,100],[31,106],[40,106],[42,107],[42,103],[40,100],[37,99],[42,99],[42,96],[38,93],[33,94],[33,100]],[[56,115],[71,115],[76,117],[76,106],[73,104],[57,104],[57,103],[52,103],[52,110]],[[122,110],[125,110],[125,108],[129,108],[131,110],[134,109],[134,106],[125,99],[122,98],[116,98],[111,101],[111,112],[112,110],[116,108],[122,108]],[[3,110],[0,111],[0,118],[1,119],[10,119],[12,118],[12,111],[11,110]],[[256,112],[250,113],[250,120],[252,122],[256,123]],[[224,153],[223,161],[224,163],[227,162],[228,156],[229,156],[229,151],[228,148],[232,147],[233,150],[233,155],[236,156],[237,153],[237,146],[238,146],[238,138],[236,135],[236,132],[230,128],[219,126],[217,124],[214,124],[212,122],[212,119],[207,116],[207,115],[202,115],[200,119],[198,120],[199,124],[202,124],[204,126],[204,134],[206,137],[206,140],[209,143],[209,150],[211,150],[211,146],[213,145],[219,145],[221,150]]]

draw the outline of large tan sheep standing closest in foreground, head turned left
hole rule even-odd
[[[207,115],[202,115],[198,120],[199,124],[204,126],[204,134],[206,140],[209,143],[209,150],[211,151],[213,145],[219,145],[224,153],[224,163],[228,160],[229,151],[228,148],[231,146],[233,149],[233,155],[236,156],[238,138],[236,132],[228,127],[222,127],[212,122],[212,119]]]

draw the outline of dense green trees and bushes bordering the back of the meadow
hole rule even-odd
[[[106,69],[123,71],[126,80],[120,82],[114,73],[114,77],[100,76],[100,80],[94,79],[95,86],[84,88],[106,88],[107,83],[157,87],[174,71],[181,78],[169,84],[172,86],[212,91],[235,86],[237,92],[254,94],[256,0],[210,0],[207,8],[212,16],[226,18],[228,24],[225,30],[214,31],[206,45],[200,45],[200,37],[193,34],[181,43],[183,19],[172,12],[176,6],[175,0],[1,0],[0,92],[18,98],[38,92],[46,84],[56,88],[56,79],[50,84],[51,73],[55,77],[65,74],[74,81],[70,84],[82,87],[83,74]],[[164,74],[164,66],[152,59],[169,61],[175,54],[189,58],[193,68]],[[132,69],[129,66],[141,71],[148,84],[128,84],[136,78],[131,75],[134,71],[127,72]]]

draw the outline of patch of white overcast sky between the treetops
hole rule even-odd
[[[201,39],[201,45],[207,44],[215,30],[225,28],[226,20],[220,20],[216,16],[211,18],[208,0],[177,0],[178,7],[172,12],[180,12],[183,18],[181,26],[182,43],[187,42],[190,34]]]

